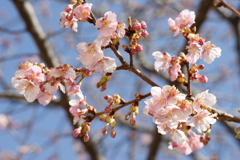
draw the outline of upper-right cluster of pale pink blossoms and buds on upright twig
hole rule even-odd
[[[199,59],[203,59],[206,63],[210,64],[215,58],[221,56],[221,49],[216,47],[211,42],[205,42],[205,40],[199,37],[195,33],[195,29],[190,30],[195,20],[195,13],[189,10],[183,10],[179,16],[174,20],[168,19],[170,30],[174,32],[176,36],[182,31],[183,36],[187,38],[188,44],[186,46],[187,54],[181,52],[180,56],[170,56],[168,53],[162,53],[160,51],[154,52],[152,55],[156,59],[154,67],[157,71],[167,70],[171,81],[178,80],[181,83],[186,83],[184,74],[181,71],[181,64],[193,64],[189,70],[191,80],[206,83],[207,77],[199,74],[199,71],[204,68],[204,65],[197,66],[196,62]],[[171,66],[172,65],[172,66]]]

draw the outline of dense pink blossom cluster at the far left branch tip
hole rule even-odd
[[[80,85],[74,84],[75,78],[75,70],[69,65],[49,69],[42,63],[25,62],[19,65],[19,70],[12,78],[12,85],[28,102],[37,99],[45,106],[56,99],[54,94],[59,89],[65,93],[62,82],[69,87],[68,95],[81,95]]]

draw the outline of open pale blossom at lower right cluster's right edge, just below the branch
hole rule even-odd
[[[207,110],[201,110],[187,122],[187,125],[195,127],[199,133],[205,132],[210,127],[210,124],[214,124],[217,121],[210,114]]]

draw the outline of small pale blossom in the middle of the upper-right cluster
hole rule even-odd
[[[189,44],[186,49],[188,49],[188,54],[186,55],[186,59],[189,63],[194,64],[199,59],[201,46],[198,43]]]

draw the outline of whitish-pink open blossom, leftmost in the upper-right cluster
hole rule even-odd
[[[157,71],[167,70],[170,66],[172,57],[168,53],[161,53],[159,51],[153,52],[153,57],[156,59],[154,67]]]

